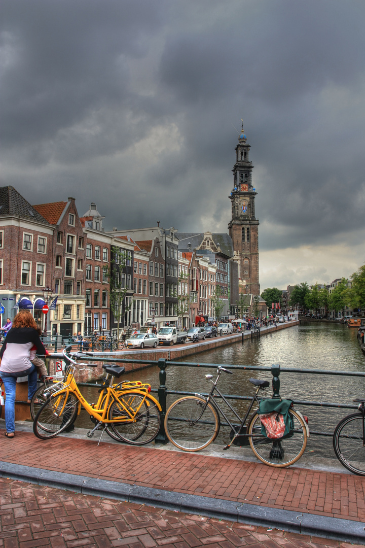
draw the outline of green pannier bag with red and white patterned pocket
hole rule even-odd
[[[294,420],[289,415],[291,399],[262,399],[258,410],[261,421],[261,433],[270,439],[291,437],[294,431]]]

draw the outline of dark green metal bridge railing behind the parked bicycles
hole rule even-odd
[[[57,355],[51,355],[47,356],[47,358],[52,357],[62,357],[63,355],[61,353],[58,353]],[[294,368],[294,367],[283,367],[281,368],[279,364],[269,366],[235,366],[235,365],[229,365],[229,364],[219,364],[219,363],[196,363],[196,362],[172,362],[167,361],[165,358],[160,358],[158,361],[154,360],[141,360],[141,359],[122,359],[122,358],[109,358],[107,356],[83,356],[83,361],[90,361],[90,362],[108,362],[108,363],[120,363],[120,364],[129,364],[129,363],[136,363],[136,364],[142,364],[145,366],[158,366],[160,369],[159,372],[159,381],[160,385],[158,389],[152,388],[152,392],[157,393],[158,399],[162,408],[162,415],[163,419],[166,414],[166,396],[168,394],[173,394],[177,396],[191,396],[194,395],[194,392],[186,392],[186,391],[178,391],[178,390],[169,390],[166,387],[166,368],[167,366],[170,367],[193,367],[193,368],[200,368],[200,369],[217,369],[218,366],[222,366],[224,368],[228,368],[231,370],[247,370],[247,371],[270,371],[271,375],[273,376],[272,386],[273,386],[273,398],[280,398],[280,374],[281,373],[303,373],[303,374],[310,374],[310,375],[340,375],[343,376],[349,376],[349,377],[361,377],[365,378],[365,372],[357,372],[357,371],[335,371],[335,370],[328,370],[328,369],[302,369],[302,368]],[[134,370],[135,372],[136,370]],[[96,383],[78,383],[79,386],[89,386],[89,387],[97,387],[100,388],[100,384]],[[204,392],[200,392],[202,395],[207,395]],[[251,396],[236,396],[236,395],[224,395],[227,399],[236,399],[237,401],[251,401],[253,398]],[[299,400],[299,399],[293,399],[293,402],[300,406],[312,406],[312,407],[323,407],[323,408],[335,408],[335,409],[357,409],[357,405],[354,404],[344,404],[344,403],[332,403],[332,402],[321,402],[321,401],[306,401],[306,400]],[[163,421],[162,421],[163,423]],[[224,425],[224,423],[222,423]],[[333,436],[333,432],[317,432],[317,431],[310,431],[312,435],[317,436]],[[156,438],[157,442],[165,443],[167,441],[165,431],[164,431],[164,425],[161,425],[161,429],[159,432],[158,437]]]

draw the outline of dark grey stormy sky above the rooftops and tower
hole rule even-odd
[[[365,262],[363,0],[3,0],[1,184],[107,229],[227,231],[237,133],[262,288]]]

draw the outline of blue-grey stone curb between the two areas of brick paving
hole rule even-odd
[[[53,472],[4,461],[0,461],[0,477],[18,479],[56,489],[67,489],[84,495],[102,496],[107,499],[157,506],[167,510],[198,513],[238,523],[283,529],[291,533],[365,544],[365,524],[358,521],[170,492],[164,489]]]

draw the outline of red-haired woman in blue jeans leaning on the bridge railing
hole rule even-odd
[[[15,390],[16,379],[28,375],[28,400],[37,390],[37,369],[31,362],[31,349],[36,346],[38,354],[46,351],[37,332],[37,324],[28,310],[20,310],[13,327],[8,332],[0,350],[0,375],[5,388],[5,436],[15,436]]]

